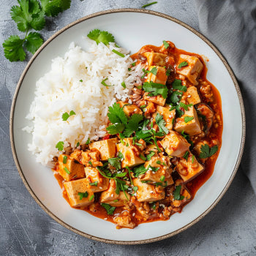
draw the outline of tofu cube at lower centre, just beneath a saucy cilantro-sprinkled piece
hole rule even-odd
[[[165,198],[165,189],[162,186],[143,183],[138,178],[132,181],[134,186],[138,187],[136,198],[139,202],[154,202]]]

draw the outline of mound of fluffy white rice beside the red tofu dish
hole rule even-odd
[[[113,49],[125,57],[113,53]],[[78,142],[82,145],[88,138],[98,140],[107,134],[108,107],[116,99],[127,99],[133,84],[141,83],[140,65],[128,71],[132,62],[124,48],[116,48],[114,43],[97,45],[94,41],[88,52],[72,43],[64,58],[53,59],[50,72],[37,81],[26,116],[33,125],[23,128],[32,135],[28,146],[37,162],[47,165],[59,156],[59,141],[64,142],[64,148],[75,148]],[[103,86],[102,80],[111,86]],[[71,110],[76,114],[63,121],[62,114]]]

